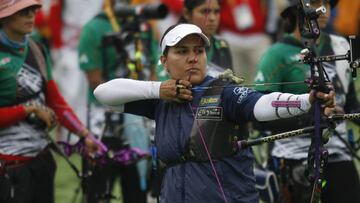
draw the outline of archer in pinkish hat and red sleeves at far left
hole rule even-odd
[[[53,203],[56,164],[48,131],[57,122],[96,150],[60,94],[46,49],[29,34],[36,0],[0,5],[0,202]],[[90,147],[90,148],[89,148]]]

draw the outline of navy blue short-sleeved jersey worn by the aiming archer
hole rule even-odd
[[[200,86],[208,86],[213,78],[206,77]],[[196,86],[195,86],[196,88]],[[204,91],[194,91],[191,102],[142,100],[125,105],[125,112],[156,121],[158,157],[165,162],[178,160],[186,152],[199,100]],[[246,87],[228,86],[221,95],[224,116],[246,124],[254,120],[253,108],[261,93]],[[221,135],[219,135],[221,136]],[[241,150],[232,157],[215,161],[228,202],[258,202],[253,173],[251,149]],[[186,162],[167,168],[161,190],[162,202],[223,202],[217,181],[208,162]]]

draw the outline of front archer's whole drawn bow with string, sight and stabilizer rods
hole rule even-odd
[[[210,1],[208,1],[209,7],[210,7]],[[322,62],[323,61],[334,61],[334,60],[349,60],[349,54],[342,55],[342,56],[324,56],[324,57],[317,57],[315,53],[315,42],[316,39],[320,35],[320,28],[318,26],[317,18],[322,14],[326,12],[326,9],[324,6],[321,6],[317,9],[313,9],[310,5],[309,0],[300,0],[300,3],[298,5],[298,13],[300,14],[299,18],[299,27],[301,31],[301,37],[302,42],[306,49],[302,53],[304,55],[303,62],[305,64],[310,65],[311,67],[311,78],[309,80],[309,86],[310,88],[315,92],[321,91],[321,92],[329,92],[330,89],[328,87],[328,84],[330,83],[330,80],[323,69]],[[206,19],[205,19],[206,22]],[[351,58],[353,61],[354,59]],[[355,68],[359,67],[359,61],[357,63],[352,63],[351,65],[353,70],[353,76],[355,72]],[[356,72],[355,72],[356,74]],[[301,81],[303,82],[303,81]],[[298,82],[294,82],[298,83]],[[260,85],[271,85],[271,84],[260,84]],[[238,86],[238,85],[234,85]],[[233,86],[233,87],[234,87]],[[239,86],[256,86],[252,84],[244,84]],[[215,86],[215,87],[196,87],[193,88],[193,91],[202,91],[210,88],[224,88],[222,86]],[[191,108],[190,108],[191,109]],[[325,128],[329,128],[330,131],[335,128],[333,120],[335,118],[341,118],[341,119],[347,119],[347,117],[356,117],[358,118],[358,114],[355,115],[335,115],[334,117],[324,119],[324,116],[322,115],[321,111],[321,101],[319,99],[315,100],[314,103],[314,126],[307,127],[304,129],[299,129],[297,131],[290,131],[286,133],[282,133],[279,135],[274,135],[271,137],[263,138],[262,140],[255,141],[254,143],[249,141],[243,141],[237,143],[237,147],[242,149],[247,146],[252,146],[256,144],[266,143],[266,142],[273,142],[277,139],[283,139],[291,136],[296,136],[298,134],[303,133],[313,133],[311,146],[309,148],[309,156],[308,156],[308,166],[311,178],[311,181],[313,182],[313,190],[311,195],[311,202],[319,202],[320,200],[320,194],[322,190],[322,184],[323,184],[323,175],[324,175],[324,167],[327,162],[327,150],[324,148],[324,138],[322,136],[322,131]],[[194,114],[194,112],[193,112]],[[213,166],[211,155],[208,153],[208,150],[206,148],[206,144],[204,142],[204,138],[202,135],[203,130],[200,129],[200,126],[197,124],[199,128],[199,135],[201,136],[201,140],[203,142],[203,145],[205,147],[205,150],[208,154],[208,158],[210,160],[210,164],[212,166],[212,170],[214,172],[214,175],[216,177],[216,180],[218,181],[219,189],[223,195],[224,201],[227,202],[226,197],[224,195],[221,183],[217,177],[217,173],[215,171],[215,167]]]

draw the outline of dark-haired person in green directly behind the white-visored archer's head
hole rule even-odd
[[[225,69],[232,69],[230,48],[226,40],[216,36],[220,22],[219,0],[184,0],[183,15],[179,23],[191,23],[200,27],[210,39],[211,45],[206,49],[208,74],[217,76]],[[160,81],[169,79],[168,73],[159,62],[156,67]]]

